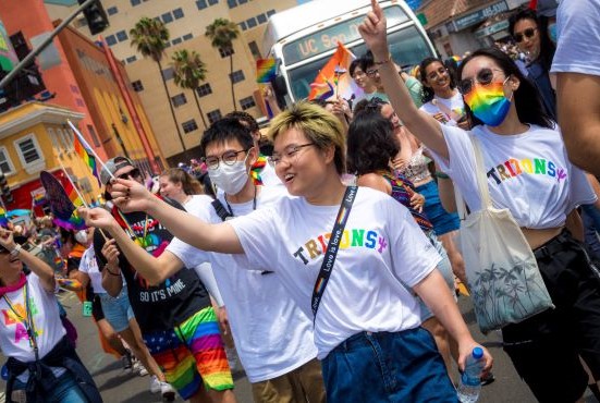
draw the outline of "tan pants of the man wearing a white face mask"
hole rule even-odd
[[[309,361],[280,377],[252,384],[256,403],[325,403],[321,364]]]

